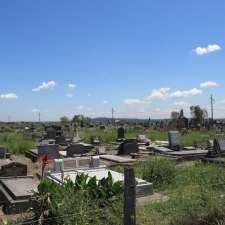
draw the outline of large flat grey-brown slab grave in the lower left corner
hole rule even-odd
[[[32,207],[39,182],[31,176],[0,179],[0,205],[5,214],[19,214]]]

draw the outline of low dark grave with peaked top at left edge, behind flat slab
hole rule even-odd
[[[27,175],[27,165],[9,159],[0,160],[1,177],[15,177],[26,175]]]

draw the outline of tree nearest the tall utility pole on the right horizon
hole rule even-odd
[[[200,128],[204,124],[205,119],[208,118],[207,110],[202,109],[199,105],[191,106],[190,110],[191,110],[192,118],[194,120],[195,127]]]

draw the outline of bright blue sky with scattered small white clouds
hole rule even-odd
[[[225,118],[224,0],[0,1],[0,121]],[[210,111],[209,111],[210,112]]]

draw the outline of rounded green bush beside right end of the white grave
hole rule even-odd
[[[150,159],[141,162],[137,166],[136,173],[142,179],[153,182],[155,188],[163,188],[174,181],[175,162],[164,158]]]

